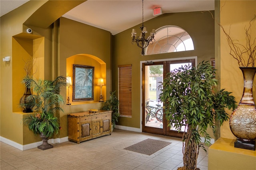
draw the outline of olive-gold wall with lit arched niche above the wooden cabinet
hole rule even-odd
[[[94,69],[94,101],[77,101],[72,102],[69,106],[63,106],[65,109],[64,113],[60,113],[60,123],[62,130],[60,137],[68,136],[68,123],[67,115],[72,113],[88,111],[88,109],[101,109],[102,103],[98,102],[100,94],[100,88],[97,86],[98,78],[102,77],[105,80],[106,86],[102,87],[104,100],[108,99],[110,91],[110,49],[111,49],[111,34],[106,30],[88,26],[80,22],[69,20],[67,18],[60,18],[60,75],[72,76],[72,69],[67,65],[67,59],[74,55],[72,64],[96,66],[93,64],[91,59],[96,60],[101,67],[105,67],[102,72]],[[90,58],[88,58],[88,56]],[[84,59],[83,59],[84,58]],[[105,65],[105,66],[104,66]],[[71,66],[72,67],[72,66]],[[67,71],[67,69],[69,69]],[[73,77],[72,77],[73,81]],[[65,91],[66,92],[66,91]],[[107,92],[107,93],[106,93]],[[72,91],[70,91],[70,95]],[[63,94],[66,96],[66,94]],[[71,99],[72,100],[72,99]]]

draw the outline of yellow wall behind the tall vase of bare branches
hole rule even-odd
[[[239,40],[240,43],[245,44],[245,31],[244,27],[248,28],[248,24],[254,15],[256,14],[256,1],[253,0],[238,0],[238,1],[220,1],[220,24],[228,32],[230,29],[230,37],[233,40]],[[256,21],[251,29],[252,39],[256,37]],[[237,61],[229,54],[230,47],[228,46],[226,36],[223,31],[220,30],[220,79],[221,89],[233,92],[232,95],[239,102],[242,93],[244,80],[242,72],[239,69]],[[254,79],[254,84],[256,79]],[[254,86],[254,100],[256,97],[256,91]],[[231,114],[231,111],[228,113]],[[224,122],[220,131],[223,138],[236,138],[229,127],[229,122]]]

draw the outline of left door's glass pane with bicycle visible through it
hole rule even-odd
[[[163,81],[163,65],[145,66],[145,126],[163,128],[163,104],[158,102],[158,86]]]

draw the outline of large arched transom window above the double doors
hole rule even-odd
[[[190,35],[178,26],[164,26],[156,30],[156,42],[148,45],[146,55],[188,51],[194,49]]]

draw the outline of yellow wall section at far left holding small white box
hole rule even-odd
[[[0,18],[0,135],[4,138],[17,142],[19,144],[26,144],[22,137],[23,125],[21,123],[22,114],[13,113],[13,94],[12,94],[12,36],[20,34],[23,30],[22,24],[26,19],[33,14],[45,1],[31,1],[17,8],[15,11],[9,12]],[[4,62],[3,57],[10,56],[11,61]],[[23,71],[23,70],[21,70]],[[20,78],[19,78],[20,79]],[[20,79],[21,81],[21,79]],[[24,93],[24,89],[22,89]],[[29,134],[29,133],[28,133]],[[34,140],[32,140],[34,141]]]

